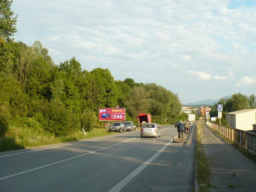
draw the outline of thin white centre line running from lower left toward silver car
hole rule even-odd
[[[26,171],[23,171],[23,172],[20,172],[20,173],[16,173],[16,174],[13,174],[13,175],[2,177],[2,178],[0,178],[0,180],[6,179],[6,178],[9,178],[9,177],[13,177],[13,176],[16,176],[16,175],[20,175],[20,174],[23,174],[23,173],[27,173],[27,172],[30,172],[30,171],[38,170],[38,169],[41,169],[41,168],[44,168],[44,167],[48,167],[48,166],[51,166],[51,165],[54,165],[54,164],[62,163],[62,162],[65,162],[65,161],[68,161],[68,160],[71,160],[71,159],[75,159],[75,158],[78,158],[78,157],[82,157],[84,155],[88,155],[88,154],[91,154],[91,153],[95,153],[95,152],[98,152],[98,151],[101,151],[101,150],[104,150],[104,149],[107,149],[107,148],[110,148],[110,147],[122,144],[124,142],[128,142],[130,140],[134,140],[136,138],[138,138],[138,137],[135,137],[135,138],[132,138],[132,139],[129,139],[129,140],[126,140],[126,141],[123,141],[123,142],[120,142],[120,143],[108,146],[108,147],[104,147],[104,148],[98,149],[96,151],[91,151],[91,152],[88,152],[88,153],[85,153],[85,154],[82,154],[82,155],[78,155],[78,156],[75,156],[75,157],[72,157],[72,158],[64,159],[64,160],[61,160],[61,161],[58,161],[58,162],[54,162],[54,163],[51,163],[51,164],[47,164],[47,165],[44,165],[44,166],[41,166],[41,167],[37,167],[37,168],[34,168],[34,169],[30,169],[30,170],[26,170]]]

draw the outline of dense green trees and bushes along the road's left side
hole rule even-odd
[[[82,70],[75,58],[55,65],[38,40],[32,46],[14,42],[11,4],[0,1],[0,151],[103,127],[98,108],[116,104],[135,122],[140,112],[157,123],[180,115],[178,95],[160,85],[116,81],[108,69]]]

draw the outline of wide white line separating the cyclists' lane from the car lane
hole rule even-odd
[[[170,145],[172,140],[170,140],[168,143],[166,143],[165,146],[163,146],[156,154],[154,154],[152,157],[150,157],[146,162],[144,162],[141,166],[136,168],[132,173],[130,173],[126,178],[124,178],[122,181],[120,181],[116,186],[114,186],[111,190],[108,192],[118,192],[120,191],[130,180],[132,180],[136,175],[138,175],[146,166],[148,166],[155,158],[157,158],[164,150],[165,148]]]

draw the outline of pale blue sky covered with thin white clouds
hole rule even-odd
[[[256,1],[14,0],[14,38],[115,80],[154,82],[183,104],[256,94]]]

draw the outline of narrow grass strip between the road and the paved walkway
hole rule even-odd
[[[211,186],[209,176],[210,163],[204,152],[204,146],[202,144],[202,133],[201,129],[204,127],[204,122],[200,121],[196,128],[196,179],[199,186],[199,192],[208,192]]]

